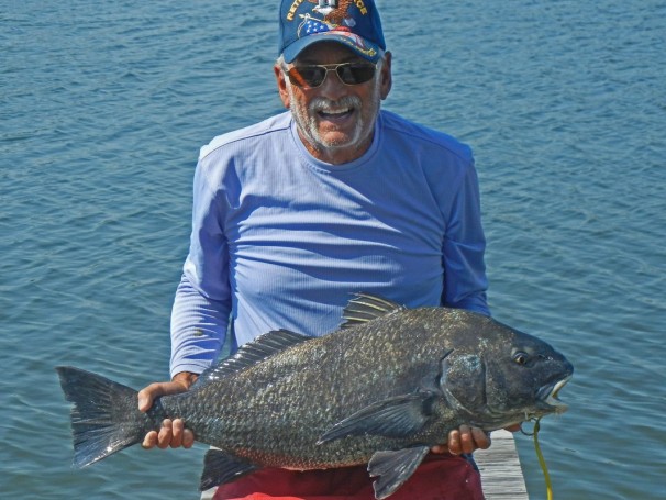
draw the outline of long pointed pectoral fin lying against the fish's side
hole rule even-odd
[[[378,401],[333,425],[318,444],[349,435],[408,436],[428,422],[433,399],[433,392],[422,391]]]

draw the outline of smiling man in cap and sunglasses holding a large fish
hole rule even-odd
[[[352,292],[489,314],[476,171],[453,137],[380,110],[391,89],[373,0],[284,0],[274,70],[289,110],[214,138],[195,175],[190,252],[171,318],[171,376],[145,411],[187,390],[232,335],[336,329]],[[181,420],[144,447],[190,447]],[[442,436],[395,499],[480,499],[468,456],[489,437]],[[215,498],[373,498],[364,467],[263,469]]]

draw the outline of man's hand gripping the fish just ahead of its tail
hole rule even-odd
[[[148,411],[153,401],[160,396],[177,395],[185,392],[197,380],[196,374],[182,371],[177,374],[170,382],[154,382],[138,391],[138,409]],[[195,444],[195,434],[189,429],[185,429],[185,422],[181,419],[165,419],[162,422],[159,432],[151,431],[143,440],[142,446],[146,449],[154,448],[190,448]]]

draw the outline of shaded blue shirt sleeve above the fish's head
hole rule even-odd
[[[478,178],[473,164],[465,168],[451,207],[442,252],[442,303],[490,315],[484,262],[486,238],[481,226]]]

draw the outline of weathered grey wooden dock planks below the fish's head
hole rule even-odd
[[[492,445],[474,453],[486,500],[528,500],[525,479],[518,459],[513,434],[493,431]]]

